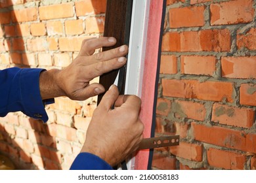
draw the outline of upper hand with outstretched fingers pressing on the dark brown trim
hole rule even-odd
[[[106,52],[94,54],[102,46],[114,46],[113,37],[85,39],[79,55],[65,69],[52,69],[40,75],[42,99],[68,96],[74,100],[85,100],[105,91],[98,83],[89,84],[93,78],[125,65],[128,52],[126,45]],[[93,55],[94,54],[94,55]]]

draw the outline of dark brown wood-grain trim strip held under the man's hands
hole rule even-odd
[[[103,51],[117,48],[123,44],[129,44],[129,35],[131,28],[131,12],[133,7],[133,0],[108,0],[106,6],[106,18],[104,27],[104,36],[115,37],[117,43],[115,46],[103,48]],[[106,90],[110,88],[116,79],[119,69],[105,73],[100,76],[100,84],[104,86]],[[126,66],[120,69],[119,74],[119,92],[123,94],[125,86],[125,71]],[[102,99],[102,96],[98,95],[98,104]]]

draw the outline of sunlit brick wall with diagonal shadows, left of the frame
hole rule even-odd
[[[0,2],[0,69],[61,69],[77,56],[83,39],[102,35],[106,0],[53,3]],[[95,101],[57,98],[47,107],[47,124],[21,112],[0,118],[0,153],[17,169],[69,169],[83,145]]]

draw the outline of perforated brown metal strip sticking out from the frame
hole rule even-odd
[[[140,142],[139,150],[150,148],[161,148],[167,146],[178,146],[179,135],[167,136],[167,137],[153,137],[148,139],[142,139]]]

